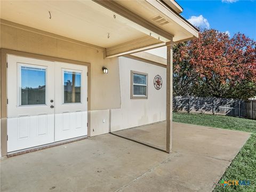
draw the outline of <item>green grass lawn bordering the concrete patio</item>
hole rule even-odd
[[[250,186],[223,188],[217,185],[213,191],[256,191],[256,120],[221,115],[173,113],[173,121],[251,132],[251,137],[221,178],[223,180],[250,180]]]

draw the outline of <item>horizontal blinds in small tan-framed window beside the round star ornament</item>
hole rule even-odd
[[[133,74],[133,95],[147,96],[147,76]]]

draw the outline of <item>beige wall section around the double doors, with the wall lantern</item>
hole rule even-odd
[[[91,63],[91,135],[108,132],[108,109],[121,106],[118,58],[104,59],[101,49],[3,24],[1,48]]]

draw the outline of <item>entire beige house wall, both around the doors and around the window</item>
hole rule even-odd
[[[109,132],[109,109],[111,131],[165,120],[163,67],[124,57],[104,59],[102,49],[3,24],[1,48],[91,63],[92,136]],[[109,69],[108,74],[102,73],[102,66]],[[148,73],[148,99],[130,99],[131,70]],[[158,91],[153,84],[155,75],[163,79]]]

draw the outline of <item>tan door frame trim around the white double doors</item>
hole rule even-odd
[[[91,126],[90,126],[90,110],[91,110],[91,63],[61,59],[57,57],[50,57],[46,55],[27,53],[21,51],[14,51],[10,49],[1,49],[1,156],[7,155],[7,54],[17,55],[20,57],[41,59],[47,61],[58,61],[64,63],[74,63],[76,65],[87,66],[87,121],[88,121],[88,130],[87,137],[91,136]]]

